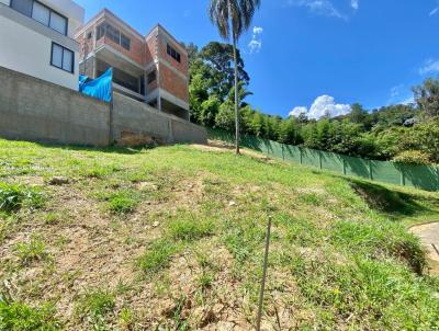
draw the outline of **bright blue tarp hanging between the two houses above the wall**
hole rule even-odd
[[[79,76],[79,92],[92,98],[111,102],[113,68],[106,70],[101,77],[88,81],[87,76]]]

